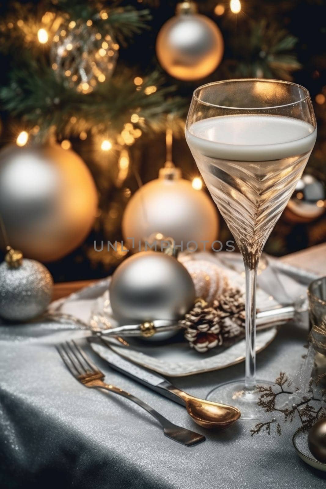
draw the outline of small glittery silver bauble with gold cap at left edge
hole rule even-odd
[[[23,259],[17,268],[0,265],[0,316],[28,321],[45,311],[52,297],[50,272],[35,260]]]

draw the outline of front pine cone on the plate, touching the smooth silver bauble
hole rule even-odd
[[[207,306],[207,302],[198,300],[194,308],[179,323],[186,329],[185,339],[191,348],[204,353],[223,343],[220,322],[222,311]]]

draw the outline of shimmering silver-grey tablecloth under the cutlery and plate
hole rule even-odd
[[[0,487],[78,489],[316,489],[326,474],[305,465],[283,435],[251,437],[254,422],[213,433],[186,410],[111,370],[83,337],[56,323],[0,326]],[[305,354],[307,318],[289,323],[257,357],[260,378],[295,375]],[[87,389],[66,370],[54,346],[80,338],[107,380],[155,407],[176,424],[205,434],[192,448],[164,437],[135,404]],[[217,383],[243,375],[244,365],[172,382],[205,397]]]

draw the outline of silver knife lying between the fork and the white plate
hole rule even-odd
[[[113,350],[107,346],[105,339],[96,336],[90,336],[87,339],[92,344],[92,349],[104,360],[106,360],[114,370],[117,370],[133,380],[146,385],[146,387],[150,387],[153,391],[158,392],[168,399],[174,400],[174,402],[177,402],[182,406],[186,405],[184,400],[182,400],[180,397],[183,391],[177,387],[174,387],[174,385],[172,385],[164,377],[156,374],[156,372],[140,367],[139,365],[136,365],[130,360],[126,360],[122,356],[113,352]]]

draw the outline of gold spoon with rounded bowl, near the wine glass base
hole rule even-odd
[[[164,388],[184,401],[189,416],[199,426],[223,429],[228,428],[231,424],[239,420],[241,413],[236,407],[199,399],[187,394],[187,392],[181,391],[168,382],[167,384]]]

